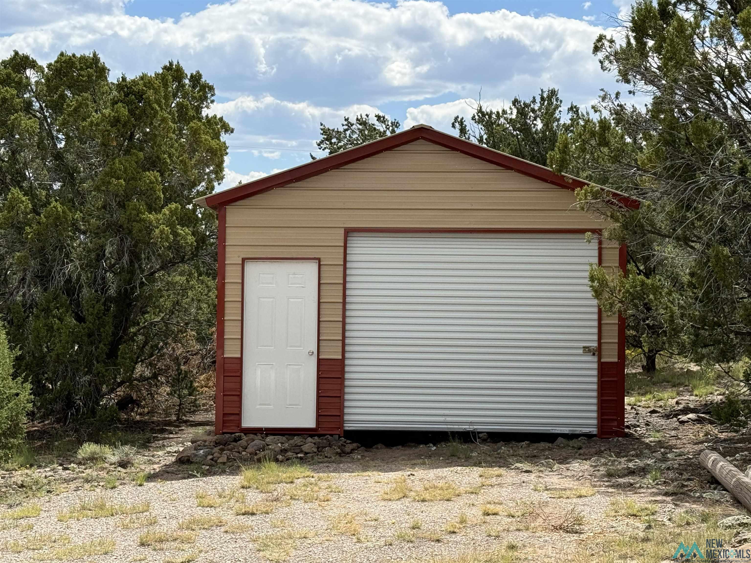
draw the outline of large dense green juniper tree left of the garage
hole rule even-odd
[[[109,80],[96,53],[0,62],[0,316],[41,416],[109,423],[170,342],[210,341],[232,131],[169,62]]]

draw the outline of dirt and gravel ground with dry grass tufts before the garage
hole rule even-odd
[[[751,518],[698,454],[746,471],[749,435],[678,422],[716,400],[683,390],[627,406],[626,438],[403,444],[244,473],[173,463],[207,420],[158,426],[130,468],[56,459],[0,472],[0,561],[670,561],[681,541],[745,549]]]

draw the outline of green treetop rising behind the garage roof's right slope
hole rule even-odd
[[[569,107],[569,114],[578,115],[579,108]],[[451,128],[462,139],[488,146],[509,155],[547,165],[547,154],[553,150],[560,134],[568,129],[562,120],[562,101],[558,90],[540,90],[540,98],[514,98],[510,107],[493,110],[478,103],[470,122],[454,117]]]

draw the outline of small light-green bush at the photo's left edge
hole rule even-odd
[[[32,408],[31,387],[13,377],[18,352],[8,345],[5,327],[0,324],[0,461],[9,459],[23,447],[26,414]]]

